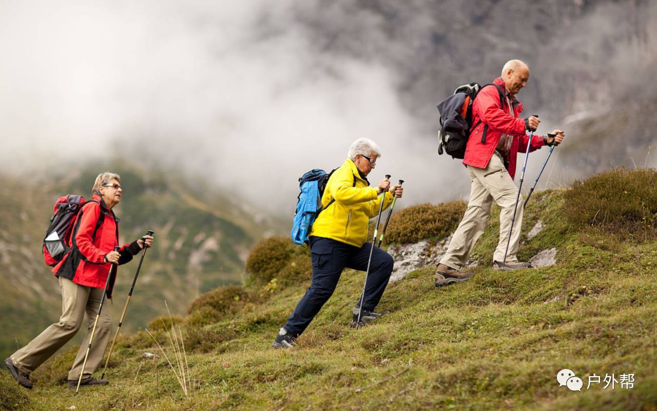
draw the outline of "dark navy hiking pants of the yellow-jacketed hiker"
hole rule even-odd
[[[361,271],[367,270],[367,259],[372,248],[371,243],[365,243],[358,248],[330,238],[315,236],[310,237],[309,242],[310,257],[313,263],[313,282],[284,326],[285,330],[292,335],[299,335],[306,330],[308,324],[319,313],[319,309],[332,295],[344,267]],[[392,265],[390,254],[374,247],[365,286],[364,310],[373,311],[378,304],[386,290],[390,274],[392,274]],[[361,304],[360,297],[359,295],[357,307]]]

